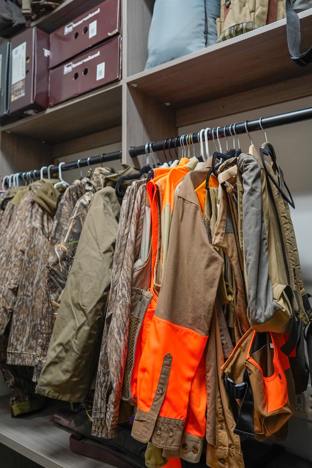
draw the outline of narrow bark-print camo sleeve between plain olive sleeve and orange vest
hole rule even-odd
[[[133,263],[138,257],[146,197],[146,180],[126,190],[118,225],[109,304],[96,379],[92,435],[116,437],[123,372],[127,357]]]

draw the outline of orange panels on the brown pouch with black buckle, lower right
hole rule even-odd
[[[260,369],[262,373],[262,369],[259,364],[250,357],[250,348],[254,342],[254,337],[257,332],[254,331],[253,338],[250,342],[248,353],[247,353],[247,360]],[[267,395],[267,412],[268,414],[272,411],[276,411],[279,408],[283,408],[283,406],[287,403],[288,400],[288,391],[287,391],[287,381],[286,376],[283,370],[282,360],[279,358],[279,343],[280,339],[275,335],[280,335],[279,333],[270,333],[272,343],[274,346],[274,356],[273,356],[273,366],[274,366],[274,374],[270,377],[263,377],[263,384],[266,390]],[[277,340],[276,340],[277,338]],[[284,355],[285,356],[285,355]],[[286,356],[285,356],[286,357]],[[263,374],[262,374],[263,375]]]

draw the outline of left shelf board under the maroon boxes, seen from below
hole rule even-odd
[[[118,127],[121,118],[122,84],[117,81],[0,127],[0,130],[56,144]]]

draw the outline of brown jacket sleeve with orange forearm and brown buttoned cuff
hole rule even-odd
[[[209,242],[199,205],[178,196],[166,271],[138,369],[132,436],[141,442],[179,449],[222,263]]]

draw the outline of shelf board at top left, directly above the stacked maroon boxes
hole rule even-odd
[[[51,32],[71,22],[77,16],[82,15],[87,10],[96,7],[103,0],[65,0],[59,7],[56,7],[51,13],[31,22],[31,26],[37,26],[39,29],[51,34]]]

